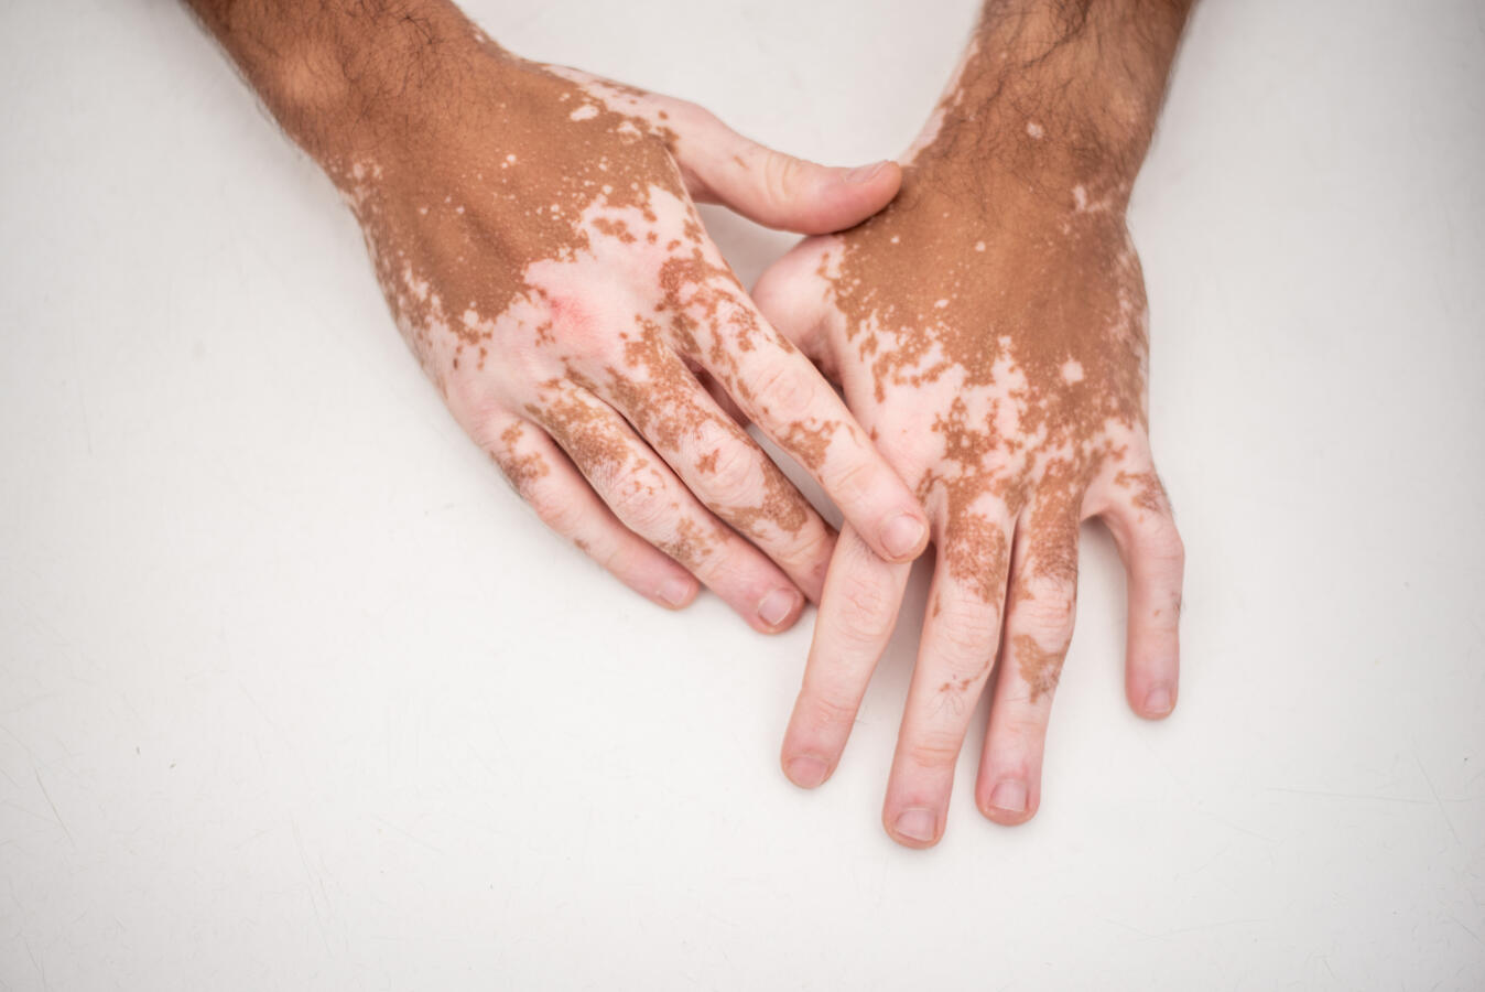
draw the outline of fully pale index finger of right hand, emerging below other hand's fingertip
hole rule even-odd
[[[796,786],[814,789],[839,763],[872,670],[897,624],[909,572],[910,564],[882,561],[849,526],[841,530],[780,753]]]

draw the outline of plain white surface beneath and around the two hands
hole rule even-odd
[[[974,3],[469,7],[858,162]],[[976,812],[982,720],[930,852],[878,821],[916,624],[793,789],[812,613],[545,533],[174,3],[0,6],[0,988],[1485,986],[1481,3],[1198,10],[1132,220],[1181,707],[1087,529],[1041,814]]]

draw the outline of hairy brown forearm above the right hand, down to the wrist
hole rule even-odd
[[[924,165],[988,162],[1031,186],[1127,187],[1192,0],[988,0]]]

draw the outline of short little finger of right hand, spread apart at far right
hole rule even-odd
[[[1176,705],[1181,685],[1181,587],[1185,548],[1160,477],[1115,477],[1123,490],[1102,515],[1129,575],[1124,694],[1135,713],[1158,720]]]

